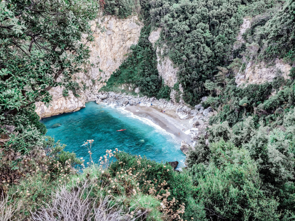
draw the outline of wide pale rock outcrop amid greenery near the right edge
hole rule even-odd
[[[252,61],[248,62],[245,72],[239,71],[236,78],[237,85],[245,84],[261,84],[272,81],[276,76],[289,78],[291,66],[285,64],[282,59],[276,59],[275,65],[267,67],[264,62],[254,64]]]

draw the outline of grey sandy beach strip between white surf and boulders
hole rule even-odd
[[[136,106],[128,106],[125,108],[125,110],[132,112],[136,116],[147,118],[153,121],[155,124],[159,125],[168,133],[172,133],[173,135],[175,135],[180,142],[182,140],[185,140],[191,143],[191,136],[186,135],[182,131],[182,129],[184,128],[185,130],[188,130],[192,128],[192,124],[189,123],[189,120],[187,119],[180,119],[179,116],[175,113],[175,110],[165,110],[165,113],[161,113],[161,109],[159,109],[157,106],[153,105],[150,107],[146,107],[140,106],[139,104],[137,104]]]

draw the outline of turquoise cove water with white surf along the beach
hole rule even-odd
[[[174,135],[123,108],[89,102],[86,108],[77,112],[44,118],[41,122],[47,127],[46,135],[61,140],[67,145],[65,150],[74,151],[85,162],[89,159],[88,149],[81,145],[93,139],[92,159],[95,163],[106,149],[118,148],[157,162],[177,160],[180,167],[184,164],[185,155]],[[127,130],[116,131],[122,128]]]

